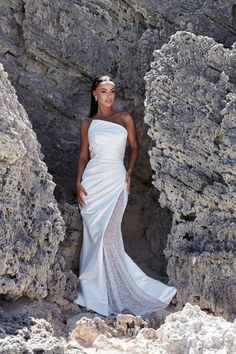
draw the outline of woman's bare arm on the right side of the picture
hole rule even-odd
[[[126,129],[128,132],[128,142],[129,142],[129,146],[130,146],[129,165],[128,165],[128,170],[126,173],[126,181],[128,184],[128,191],[130,191],[131,174],[133,172],[136,160],[138,158],[139,144],[138,144],[138,137],[137,137],[135,121],[129,113],[126,113],[125,123],[126,123]]]

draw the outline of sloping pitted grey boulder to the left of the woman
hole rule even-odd
[[[71,298],[75,278],[58,254],[65,226],[55,184],[2,65],[0,126],[0,294],[13,300]]]

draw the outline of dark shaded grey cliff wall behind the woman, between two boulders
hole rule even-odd
[[[137,242],[145,243],[152,259],[145,271],[165,273],[159,246],[165,246],[171,217],[156,209],[157,192],[150,194],[154,187],[147,155],[151,142],[143,122],[143,75],[153,49],[176,30],[206,34],[229,46],[235,40],[235,28],[233,0],[58,0],[56,5],[50,0],[1,1],[0,61],[29,113],[60,201],[74,201],[79,121],[87,116],[91,79],[104,72],[116,79],[117,108],[133,113],[141,151],[128,214],[142,217],[136,219],[136,228],[128,221],[124,231],[128,251],[141,265],[147,257],[137,255],[135,249]],[[158,232],[150,227],[150,210],[145,205],[154,206],[152,218]]]

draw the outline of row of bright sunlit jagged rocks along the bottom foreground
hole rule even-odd
[[[1,331],[1,353],[204,354],[236,351],[236,323],[207,315],[190,304],[169,315],[159,328],[131,315],[119,315],[110,322],[100,317],[82,317],[68,335],[64,333],[60,337],[45,319],[21,315],[21,322],[24,321],[21,328],[19,326],[8,336]],[[20,320],[20,317],[16,318]],[[5,323],[10,324],[9,318]]]

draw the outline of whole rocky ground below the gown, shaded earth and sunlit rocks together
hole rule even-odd
[[[233,354],[236,321],[227,322],[186,304],[179,312],[102,317],[62,316],[47,301],[1,302],[1,354]],[[78,311],[78,310],[77,310]],[[74,312],[75,313],[75,312]]]

